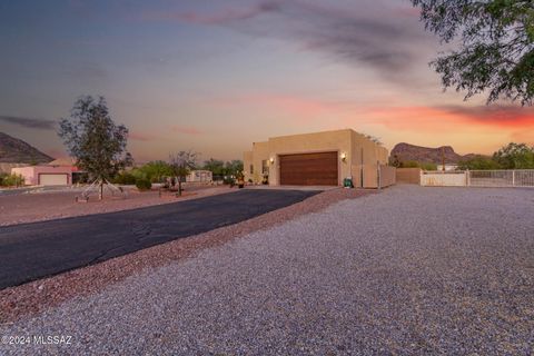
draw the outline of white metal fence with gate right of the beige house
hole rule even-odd
[[[534,187],[534,169],[422,171],[421,185],[427,187]]]

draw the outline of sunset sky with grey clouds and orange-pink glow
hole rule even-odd
[[[389,150],[534,145],[531,108],[443,92],[428,62],[447,48],[409,1],[7,0],[0,48],[0,131],[55,157],[82,95],[107,98],[138,161],[343,128]]]

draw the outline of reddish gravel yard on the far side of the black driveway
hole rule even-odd
[[[0,196],[0,226],[22,222],[34,222],[59,219],[72,216],[111,212],[136,209],[152,205],[176,202],[178,200],[195,199],[217,194],[236,191],[228,186],[192,186],[189,185],[182,197],[166,192],[161,197],[157,190],[139,192],[135,188],[126,188],[128,198],[106,195],[99,201],[91,196],[88,202],[76,202],[75,197],[81,194],[76,191],[42,191]]]

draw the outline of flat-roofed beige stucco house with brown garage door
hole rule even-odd
[[[244,154],[245,180],[270,186],[378,188],[395,184],[388,151],[352,129],[273,137]]]

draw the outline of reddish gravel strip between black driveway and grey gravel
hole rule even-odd
[[[319,211],[334,202],[358,198],[372,192],[374,190],[343,188],[327,190],[293,206],[239,224],[0,290],[0,323],[12,322],[22,316],[40,313],[72,297],[97,293],[103,287],[142,269],[155,268],[174,260],[191,257],[201,249],[219,246],[231,239],[269,228],[275,224],[294,219],[300,215]]]

